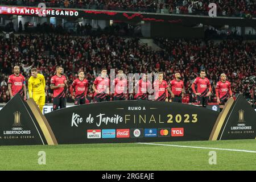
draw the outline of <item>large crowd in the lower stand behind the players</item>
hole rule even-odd
[[[162,51],[153,51],[138,38],[123,38],[112,34],[73,36],[68,34],[18,34],[9,39],[0,36],[0,102],[10,100],[7,78],[14,65],[20,65],[23,76],[30,76],[30,69],[37,68],[46,77],[46,102],[52,102],[50,78],[57,65],[62,65],[64,75],[70,85],[83,69],[89,81],[88,100],[93,97],[92,84],[101,68],[122,69],[128,73],[164,72],[164,80],[170,81],[175,72],[180,72],[184,80],[187,97],[184,102],[196,102],[192,94],[192,81],[200,69],[206,69],[207,77],[214,88],[221,73],[226,73],[232,82],[234,97],[238,93],[250,93],[249,86],[242,80],[255,74],[255,42],[222,40],[204,42],[196,40],[155,39]],[[67,102],[73,102],[66,90]],[[133,100],[134,95],[127,95]],[[110,98],[111,99],[111,98]],[[216,102],[213,94],[210,102]]]

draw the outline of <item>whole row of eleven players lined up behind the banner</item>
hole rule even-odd
[[[72,84],[68,86],[67,78],[62,75],[63,68],[56,67],[56,75],[51,77],[50,88],[53,90],[53,110],[66,107],[65,88],[69,88],[75,105],[85,104],[86,94],[88,90],[88,80],[84,77],[84,71],[79,71],[78,78],[73,80]],[[123,71],[118,71],[118,76],[111,81],[107,77],[107,69],[101,69],[101,74],[98,76],[92,85],[94,90],[94,102],[107,101],[110,94],[110,86],[114,87],[114,101],[126,100],[127,93],[127,79]],[[31,69],[31,77],[28,79],[28,94],[33,98],[40,110],[46,100],[45,96],[46,81],[42,74],[39,74],[36,68]],[[137,88],[137,89],[136,89]],[[210,81],[205,77],[205,70],[200,71],[200,77],[195,78],[191,86],[193,93],[197,96],[199,105],[206,107],[208,104],[208,97],[212,92]],[[14,74],[9,76],[8,89],[11,98],[19,93],[24,96],[26,100],[27,90],[24,76],[20,74],[19,66],[14,67]],[[159,72],[153,85],[147,78],[147,74],[143,74],[142,78],[135,82],[135,99],[136,100],[155,100],[168,102],[168,94],[171,94],[172,102],[181,102],[183,94],[185,93],[184,83],[181,80],[180,73],[175,73],[174,80],[163,80],[163,73]],[[151,92],[152,91],[152,92]],[[152,95],[154,93],[154,95]],[[228,98],[232,97],[231,84],[226,80],[225,73],[220,76],[220,81],[216,85],[217,102],[220,105],[225,105]]]

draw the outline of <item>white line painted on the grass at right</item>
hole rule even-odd
[[[256,151],[251,151],[251,150],[237,150],[237,149],[212,148],[212,147],[179,146],[179,145],[176,145],[176,144],[160,144],[160,143],[138,143],[138,144],[148,144],[148,145],[155,145],[155,146],[170,146],[170,147],[183,147],[183,148],[200,148],[200,149],[212,149],[212,150],[225,150],[225,151],[235,151],[235,152],[256,153]]]

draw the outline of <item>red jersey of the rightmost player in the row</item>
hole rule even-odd
[[[219,81],[216,85],[216,96],[218,97],[220,93],[220,99],[224,100],[229,96],[232,96],[231,84],[229,81]]]

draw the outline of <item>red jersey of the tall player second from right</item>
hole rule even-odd
[[[195,85],[197,85],[197,92],[195,89]],[[205,97],[207,95],[208,88],[209,88],[209,92],[211,92],[212,86],[210,86],[210,81],[208,80],[208,78],[203,79],[201,77],[197,77],[192,84],[193,92],[201,93],[201,97]]]

